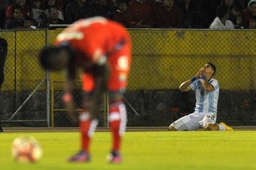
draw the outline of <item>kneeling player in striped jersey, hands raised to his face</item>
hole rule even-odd
[[[205,64],[196,76],[180,84],[182,92],[196,92],[194,113],[179,118],[168,127],[168,131],[194,131],[200,127],[207,131],[233,131],[225,123],[216,123],[219,98],[219,83],[213,78],[216,67],[212,63]]]

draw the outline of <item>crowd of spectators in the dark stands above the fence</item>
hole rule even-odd
[[[1,29],[104,16],[127,28],[255,29],[256,0],[0,0]]]

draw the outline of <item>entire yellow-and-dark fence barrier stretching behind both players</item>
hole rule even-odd
[[[9,107],[4,106],[4,111],[1,109],[1,112],[5,112],[2,115],[5,120],[6,113],[9,113],[9,117],[12,116],[12,103],[18,100],[11,94],[34,90],[35,85],[46,76],[38,66],[36,55],[41,47],[48,44],[46,39],[52,44],[61,31],[62,29],[49,30],[48,37],[46,30],[0,32],[0,36],[9,42],[1,94],[5,94],[5,98],[10,95],[14,99],[5,101]],[[131,29],[129,32],[133,42],[133,60],[129,86],[124,94],[129,126],[167,126],[177,118],[193,112],[193,93],[181,93],[178,87],[180,83],[193,77],[207,62],[212,62],[217,67],[215,78],[221,88],[218,119],[240,125],[255,123],[255,30]],[[64,73],[51,74],[53,127],[77,126],[66,117],[61,101],[64,78]],[[41,86],[37,93],[46,96],[46,89],[46,86]],[[80,84],[77,83],[77,110],[82,101],[80,92]],[[46,112],[46,98],[36,96],[27,105],[35,107],[35,101],[40,100],[40,108],[43,110],[44,106],[42,112]],[[100,126],[107,126],[106,102],[107,96],[102,99]],[[39,110],[29,110],[30,107],[27,109],[24,115]],[[46,115],[44,114],[44,118]]]

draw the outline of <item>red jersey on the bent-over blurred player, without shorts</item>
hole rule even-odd
[[[74,50],[84,53],[92,63],[101,63],[102,56],[113,53],[125,43],[130,43],[129,33],[123,25],[103,17],[80,19],[63,30],[55,45],[68,41]]]

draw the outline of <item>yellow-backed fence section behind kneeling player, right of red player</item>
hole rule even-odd
[[[129,126],[168,126],[194,111],[193,92],[180,83],[205,63],[216,66],[220,94],[218,121],[256,122],[255,30],[130,30],[133,63],[125,97]]]

